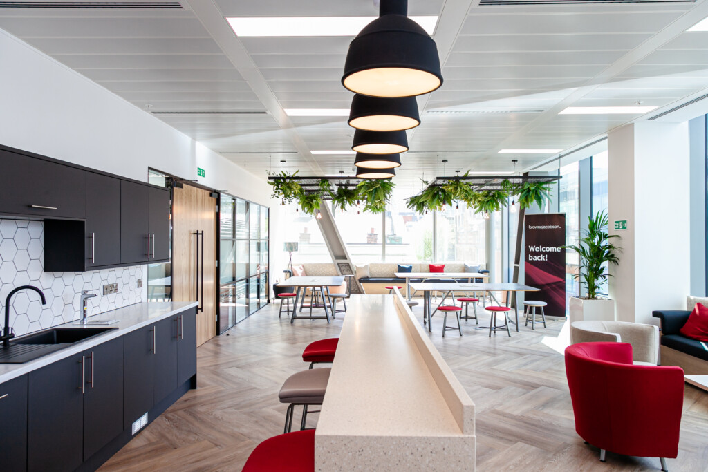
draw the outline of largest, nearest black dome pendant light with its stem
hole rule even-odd
[[[438,47],[408,18],[408,0],[381,0],[379,18],[349,45],[342,84],[375,97],[411,97],[442,85]]]

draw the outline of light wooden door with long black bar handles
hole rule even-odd
[[[184,185],[172,196],[172,299],[199,301],[197,345],[217,333],[217,200],[210,193]]]

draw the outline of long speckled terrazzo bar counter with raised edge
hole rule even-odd
[[[396,290],[352,297],[315,470],[474,471],[474,403]]]

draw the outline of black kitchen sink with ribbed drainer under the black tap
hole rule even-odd
[[[113,328],[52,328],[11,340],[9,347],[0,347],[0,364],[22,364],[69,347]]]

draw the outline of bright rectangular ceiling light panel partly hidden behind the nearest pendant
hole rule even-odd
[[[356,36],[377,16],[293,16],[227,18],[236,36]],[[438,16],[411,16],[429,35],[435,31]]]

